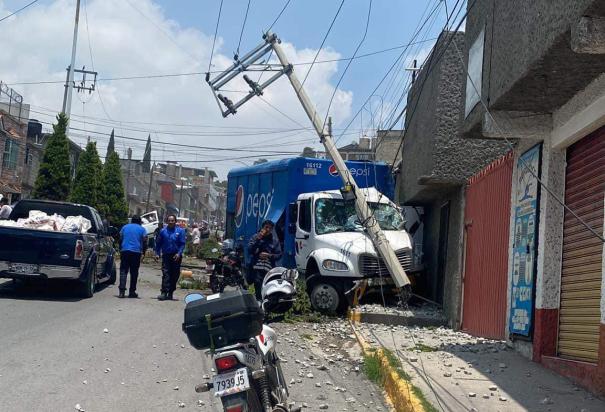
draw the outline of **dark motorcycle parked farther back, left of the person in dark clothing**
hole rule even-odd
[[[212,252],[217,253],[218,249],[212,249]],[[223,292],[226,286],[246,288],[241,247],[234,250],[227,241],[223,242],[222,256],[206,259],[206,267],[212,268],[209,283],[213,293]]]

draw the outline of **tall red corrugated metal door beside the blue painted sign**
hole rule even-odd
[[[471,177],[466,188],[462,329],[502,339],[510,226],[512,152]]]

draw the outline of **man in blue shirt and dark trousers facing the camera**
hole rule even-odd
[[[185,230],[176,226],[176,216],[169,215],[166,222],[155,242],[155,253],[162,256],[162,290],[158,300],[172,300],[185,249]]]

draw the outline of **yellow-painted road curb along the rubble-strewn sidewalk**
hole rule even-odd
[[[349,311],[349,323],[353,329],[353,334],[361,347],[364,355],[368,356],[372,351],[372,355],[376,354],[380,359],[382,367],[386,371],[384,380],[384,390],[388,401],[393,405],[396,412],[424,412],[425,408],[411,389],[412,383],[409,380],[403,379],[393,369],[385,353],[380,348],[370,346],[361,334],[355,328],[355,323],[359,323],[359,312]]]

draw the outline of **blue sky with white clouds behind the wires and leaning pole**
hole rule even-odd
[[[252,0],[241,53],[260,43],[263,30],[273,22],[285,1]],[[28,2],[0,0],[0,16]],[[454,3],[448,0],[450,11]],[[100,78],[204,72],[208,68],[219,4],[220,0],[82,0],[76,66],[91,68],[94,60]],[[224,0],[214,69],[230,64],[247,4],[248,0]],[[273,30],[283,40],[284,49],[294,63],[313,59],[339,5],[340,0],[291,0]],[[319,60],[353,54],[363,36],[368,5],[369,0],[345,1]],[[0,80],[14,85],[25,102],[32,105],[32,117],[46,122],[43,124],[47,129],[61,107],[74,10],[75,0],[41,0],[0,23],[3,44]],[[358,54],[410,42],[431,10],[435,10],[431,19],[416,38],[424,42],[407,50],[405,58],[378,90],[378,96],[365,106],[366,99],[402,49],[353,61],[337,89],[346,61],[313,66],[305,88],[322,116],[335,94],[330,108],[335,135],[352,121],[339,144],[373,135],[381,117],[383,126],[391,125],[389,118],[405,105],[402,95],[409,73],[404,69],[414,58],[424,60],[433,45],[431,39],[437,37],[446,19],[443,0],[373,1],[369,30]],[[304,77],[308,67],[295,67],[299,77]],[[31,82],[34,84],[26,84]],[[281,150],[282,157],[290,157],[305,146],[321,149],[317,136],[301,128],[311,125],[286,79],[267,89],[264,99],[268,103],[255,98],[236,116],[223,119],[200,75],[100,81],[93,94],[74,95],[74,131],[70,137],[79,144],[85,144],[90,137],[97,141],[102,152],[111,129],[116,128],[116,134],[123,136],[116,139],[120,154],[132,148],[137,157],[142,156],[144,148],[138,139],[151,134],[154,142],[158,142],[154,146],[154,160],[210,166],[221,177],[230,168],[251,163],[257,154],[269,159],[280,156],[268,153],[265,156],[263,150]],[[361,115],[355,117],[362,107]],[[231,132],[226,133],[225,128]],[[267,133],[250,133],[252,128],[264,128]],[[238,152],[241,158],[235,159],[238,155],[228,151],[176,150],[171,147],[175,143],[223,149],[250,147],[254,151]]]

